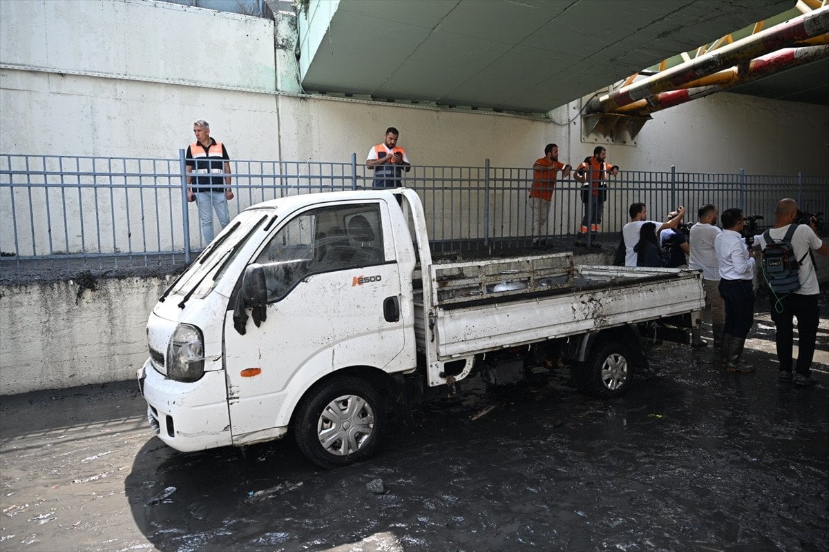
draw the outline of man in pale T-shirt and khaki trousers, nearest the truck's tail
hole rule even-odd
[[[702,287],[705,289],[705,303],[711,310],[711,331],[716,348],[722,346],[725,327],[725,303],[720,295],[720,264],[714,250],[714,240],[722,232],[716,226],[719,216],[716,206],[712,204],[703,205],[697,212],[697,223],[691,226],[691,257],[688,259],[688,268],[702,271]],[[699,331],[696,330],[697,334]]]

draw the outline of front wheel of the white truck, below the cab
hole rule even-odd
[[[336,468],[374,454],[384,421],[381,396],[371,384],[339,377],[303,399],[293,432],[308,459]]]

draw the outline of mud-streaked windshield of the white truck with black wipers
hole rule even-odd
[[[243,211],[230,223],[228,233],[216,238],[206,251],[187,267],[172,286],[170,294],[204,295],[216,285],[250,236],[267,220],[261,209]],[[165,294],[168,295],[168,294]]]

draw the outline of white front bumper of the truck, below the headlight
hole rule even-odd
[[[190,452],[231,444],[225,372],[205,372],[198,382],[176,382],[153,368],[138,370],[147,418],[158,439]]]

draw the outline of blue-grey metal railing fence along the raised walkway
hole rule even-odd
[[[240,210],[286,195],[371,188],[374,172],[356,161],[230,161],[231,218]],[[0,252],[8,262],[78,262],[138,259],[145,266],[159,255],[173,264],[190,261],[205,247],[195,204],[187,203],[184,151],[179,159],[0,155]],[[534,172],[523,167],[413,166],[400,172],[401,185],[424,202],[429,236],[438,251],[459,247],[528,247],[528,204]],[[662,220],[677,205],[696,220],[701,204],[720,211],[743,209],[773,223],[778,199],[793,197],[809,212],[829,214],[827,177],[621,171],[609,177],[604,233],[618,233],[628,206],[647,204],[649,218]],[[560,179],[542,234],[572,236],[584,214],[581,184]],[[192,205],[192,207],[191,207]],[[595,222],[595,221],[592,221]]]

